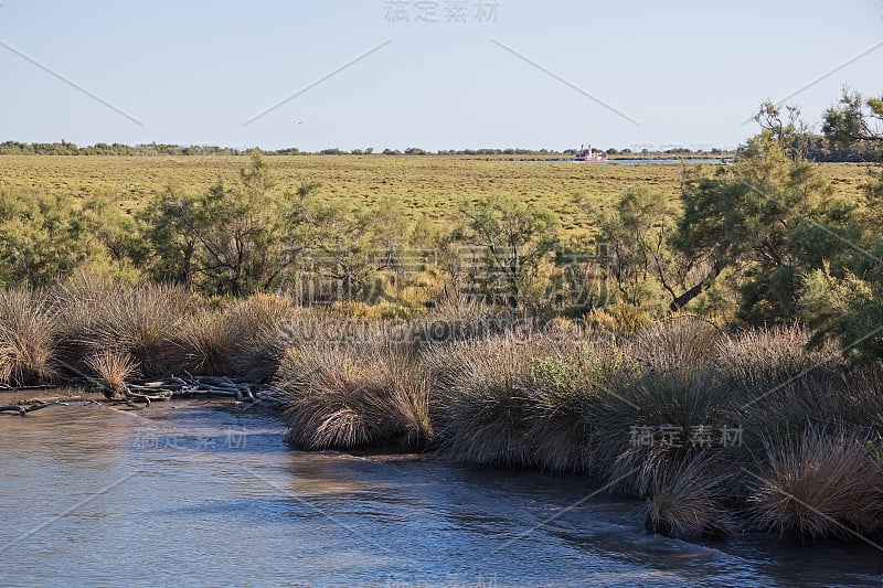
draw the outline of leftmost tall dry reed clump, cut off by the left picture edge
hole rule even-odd
[[[23,287],[0,291],[0,383],[55,379],[58,336],[57,308],[45,292]]]

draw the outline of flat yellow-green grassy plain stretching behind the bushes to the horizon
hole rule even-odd
[[[276,190],[294,191],[320,182],[319,195],[372,206],[392,200],[412,222],[425,217],[446,223],[465,201],[514,195],[554,211],[565,233],[591,231],[595,216],[617,196],[636,186],[675,197],[685,169],[714,163],[629,165],[464,156],[274,156],[266,158]],[[127,212],[167,189],[199,193],[219,179],[233,183],[248,165],[247,157],[0,157],[0,190],[43,191],[77,197],[111,196]],[[822,164],[843,195],[858,196],[869,168]]]

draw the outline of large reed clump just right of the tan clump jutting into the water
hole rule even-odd
[[[447,455],[556,471],[591,468],[586,414],[604,397],[608,379],[629,370],[613,346],[543,334],[435,344],[424,363]]]

